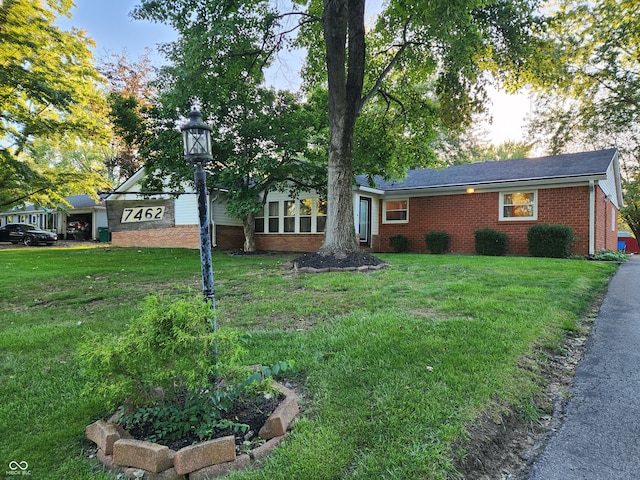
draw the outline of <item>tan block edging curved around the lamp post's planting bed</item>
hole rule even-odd
[[[116,416],[108,422],[98,420],[85,429],[89,440],[98,447],[97,458],[113,473],[122,473],[128,479],[150,480],[205,480],[226,475],[266,457],[286,437],[287,430],[300,412],[298,396],[291,389],[276,384],[285,396],[269,416],[258,436],[267,440],[248,455],[236,456],[235,438],[217,438],[177,452],[164,445],[134,440],[119,425]]]

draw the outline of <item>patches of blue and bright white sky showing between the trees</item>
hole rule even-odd
[[[367,1],[375,8],[380,0]],[[133,20],[129,12],[138,5],[138,0],[75,0],[71,19],[60,19],[63,29],[71,26],[82,28],[96,42],[94,55],[97,59],[110,54],[125,54],[131,60],[138,59],[149,48],[149,56],[156,64],[163,58],[157,53],[157,45],[175,39],[175,32],[164,25]],[[297,65],[276,61],[268,76],[279,88],[296,90],[300,84]],[[493,123],[487,125],[489,140],[500,144],[506,140],[522,141],[524,117],[530,110],[530,100],[526,94],[508,95],[493,91],[489,107]]]

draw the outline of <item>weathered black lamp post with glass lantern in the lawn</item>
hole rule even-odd
[[[207,201],[206,173],[203,164],[213,160],[211,155],[211,127],[202,121],[202,114],[196,110],[189,113],[189,121],[182,130],[184,159],[195,167],[194,180],[198,195],[198,217],[200,220],[200,262],[202,263],[202,294],[205,301],[216,308],[213,288],[213,266],[211,262],[211,237],[209,236],[209,202]],[[217,331],[215,312],[211,318],[213,331]]]

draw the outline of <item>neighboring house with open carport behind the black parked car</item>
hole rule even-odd
[[[100,228],[107,227],[104,200],[95,201],[89,195],[74,195],[65,200],[71,207],[49,209],[33,205],[0,212],[0,226],[8,223],[29,223],[58,234],[59,239],[74,240],[78,230],[83,240],[97,240]]]

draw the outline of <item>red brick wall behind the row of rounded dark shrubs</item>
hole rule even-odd
[[[389,238],[402,234],[409,239],[410,251],[426,252],[424,234],[444,230],[451,252],[475,253],[474,231],[493,228],[509,236],[508,254],[528,255],[527,230],[535,223],[570,225],[577,237],[572,253],[589,251],[588,186],[539,189],[537,221],[500,221],[498,208],[498,192],[411,198],[409,223],[383,224],[380,218],[380,251],[392,251]],[[604,225],[598,225],[604,232]]]

